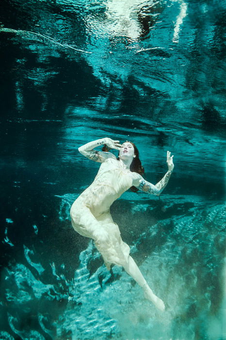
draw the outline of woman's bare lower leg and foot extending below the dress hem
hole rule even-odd
[[[144,289],[145,298],[151,301],[153,304],[155,304],[157,308],[163,311],[165,309],[163,301],[158,298],[150,289],[144,276],[142,275],[141,271],[139,270],[131,256],[129,256],[129,261],[124,266],[124,269],[130,276],[132,276],[132,278],[138,283],[138,285]]]

